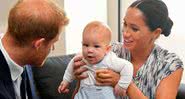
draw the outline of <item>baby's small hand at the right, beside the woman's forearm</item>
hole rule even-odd
[[[126,89],[120,87],[118,84],[114,87],[114,94],[116,96],[126,96]]]

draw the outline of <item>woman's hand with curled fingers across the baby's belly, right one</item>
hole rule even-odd
[[[119,81],[120,75],[110,69],[96,70],[96,85],[115,86]]]

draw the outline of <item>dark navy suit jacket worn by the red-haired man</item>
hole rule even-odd
[[[39,99],[36,94],[35,86],[33,83],[33,76],[30,70],[31,68],[29,66],[26,66],[29,82],[27,89],[28,99]],[[15,91],[13,88],[13,81],[10,75],[10,69],[1,50],[0,50],[0,99],[16,99]]]

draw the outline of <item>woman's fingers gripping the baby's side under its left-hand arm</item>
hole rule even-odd
[[[82,73],[87,70],[87,68],[80,68],[81,66],[85,65],[85,62],[82,61],[83,56],[81,54],[75,56],[74,64],[73,64],[73,71],[74,76],[77,80],[82,80],[87,78],[87,75],[83,75]]]

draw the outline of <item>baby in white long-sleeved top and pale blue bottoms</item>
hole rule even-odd
[[[83,30],[82,55],[86,65],[82,68],[88,69],[84,72],[88,78],[80,81],[75,99],[117,99],[117,94],[126,93],[132,80],[133,66],[129,61],[118,58],[111,51],[111,33],[110,28],[99,21],[90,22]],[[72,59],[65,71],[63,81],[58,87],[59,93],[66,93],[69,83],[74,80],[73,63]],[[96,69],[104,68],[120,73],[120,80],[115,88],[112,86],[96,86]]]

